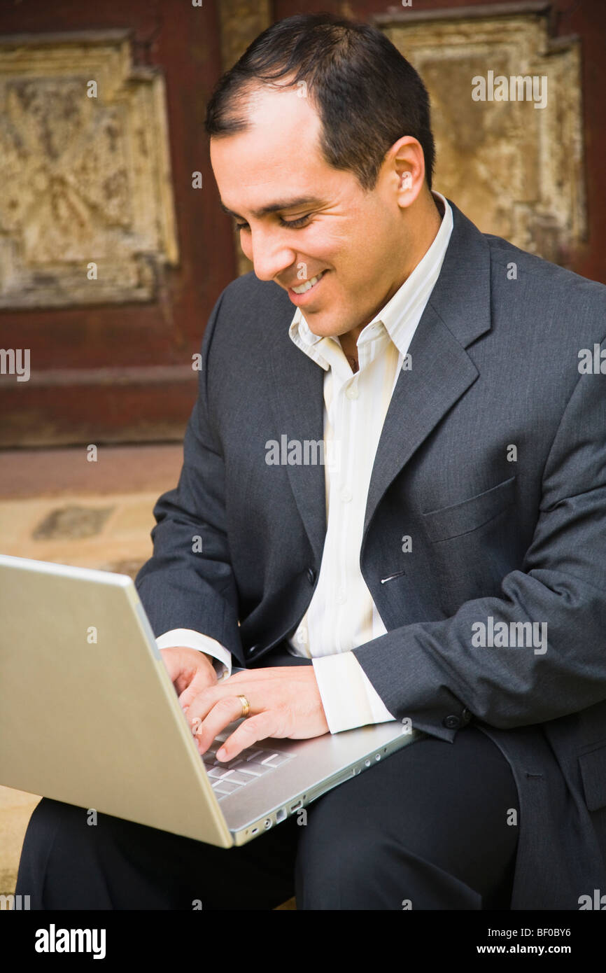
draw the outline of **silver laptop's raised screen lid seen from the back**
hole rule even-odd
[[[0,784],[232,846],[127,575],[0,555]]]

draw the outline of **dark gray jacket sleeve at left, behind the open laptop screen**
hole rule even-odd
[[[213,307],[201,343],[197,398],[185,432],[179,482],[154,507],[154,554],[139,570],[135,587],[157,637],[191,629],[241,657],[224,461],[207,398],[207,361],[224,294]]]

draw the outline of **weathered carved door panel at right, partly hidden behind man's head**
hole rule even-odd
[[[581,51],[550,37],[548,6],[375,20],[429,90],[435,188],[484,233],[565,264],[586,233]]]

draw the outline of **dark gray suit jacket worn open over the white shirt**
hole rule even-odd
[[[606,287],[448,201],[366,510],[360,565],[387,634],[354,653],[398,718],[447,741],[474,720],[506,755],[512,908],[578,909],[606,892],[606,376],[578,367],[606,347]],[[323,437],[324,372],[291,342],[293,313],[252,273],[221,294],[179,484],[136,579],[157,635],[203,631],[240,665],[296,631],[326,533],[324,467],[266,463],[267,440]],[[547,651],[475,647],[489,618],[547,624]]]

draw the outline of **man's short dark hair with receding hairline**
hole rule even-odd
[[[249,96],[295,72],[321,123],[320,149],[334,168],[376,185],[385,154],[403,135],[418,139],[431,190],[435,147],[429,95],[412,65],[376,27],[336,15],[298,14],[267,27],[219,79],[204,127],[220,138],[244,131]]]

